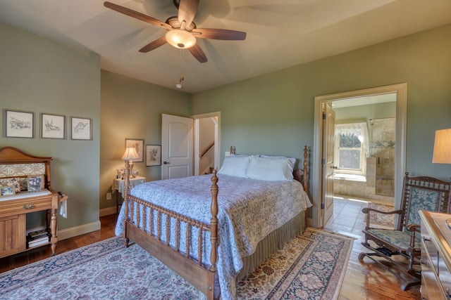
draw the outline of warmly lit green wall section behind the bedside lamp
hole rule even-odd
[[[188,117],[190,107],[187,93],[101,71],[101,209],[111,206],[116,209],[116,195],[106,200],[106,193],[111,192],[116,170],[124,167],[121,157],[125,138],[144,140],[144,148],[145,145],[161,145],[161,114]],[[133,169],[148,181],[161,178],[161,168],[146,167],[145,160],[135,162]]]

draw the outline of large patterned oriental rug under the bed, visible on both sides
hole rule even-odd
[[[237,299],[337,299],[353,239],[308,228],[237,282]],[[188,282],[121,237],[0,274],[0,299],[199,299]]]

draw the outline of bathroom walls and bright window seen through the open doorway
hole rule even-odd
[[[393,206],[396,94],[335,100],[332,105],[333,194]]]

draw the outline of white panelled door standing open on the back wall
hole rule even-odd
[[[193,120],[162,115],[161,179],[192,176]]]

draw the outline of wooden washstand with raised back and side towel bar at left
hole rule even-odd
[[[26,215],[35,211],[46,211],[49,233],[46,244],[51,244],[52,255],[55,254],[58,242],[56,211],[58,203],[67,200],[67,196],[51,189],[50,161],[51,157],[35,157],[13,147],[0,148],[2,188],[6,187],[4,182],[11,179],[17,183],[40,176],[43,181],[42,188],[36,192],[21,190],[0,197],[0,257],[32,249],[27,247]],[[20,190],[20,186],[16,188]]]

